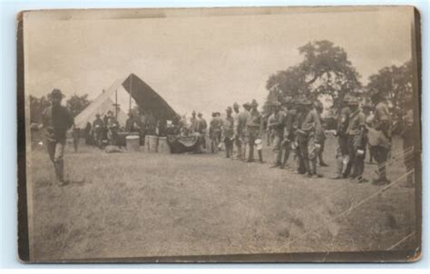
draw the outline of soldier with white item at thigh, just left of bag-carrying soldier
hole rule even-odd
[[[351,98],[348,101],[349,123],[347,126],[347,148],[351,164],[351,179],[366,182],[363,178],[366,157],[366,115],[358,107],[358,101]]]

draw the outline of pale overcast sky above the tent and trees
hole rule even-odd
[[[298,64],[298,47],[343,47],[362,83],[411,58],[412,9],[342,13],[30,20],[24,25],[26,93],[94,98],[135,73],[180,113],[210,113],[267,96],[271,73]]]

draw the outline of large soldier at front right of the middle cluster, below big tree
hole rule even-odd
[[[298,173],[306,173],[308,177],[322,177],[317,171],[317,157],[320,148],[318,138],[321,134],[321,123],[313,103],[308,99],[299,101],[297,119]]]

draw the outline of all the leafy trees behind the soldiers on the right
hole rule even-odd
[[[263,112],[269,113],[268,103],[273,100],[282,102],[286,97],[318,99],[326,96],[332,102],[332,113],[336,113],[347,93],[366,99],[373,88],[389,95],[395,109],[412,107],[411,61],[381,68],[369,76],[368,83],[363,86],[359,81],[360,74],[342,47],[323,40],[300,46],[298,53],[303,56],[300,64],[269,76],[266,83],[269,94]]]

